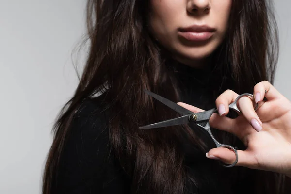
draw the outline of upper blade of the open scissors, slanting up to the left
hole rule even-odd
[[[148,90],[144,90],[144,92],[146,92],[146,94],[148,94],[149,96],[159,100],[164,105],[168,106],[169,108],[173,109],[174,111],[176,111],[177,113],[179,113],[181,115],[188,115],[188,114],[193,113],[193,112],[189,111],[188,109],[185,109],[184,107],[181,107],[180,105],[176,104],[175,102],[172,102],[171,100],[168,100],[164,97],[161,97],[160,95],[157,95],[157,94],[150,92]]]

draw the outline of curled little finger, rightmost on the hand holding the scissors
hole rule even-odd
[[[282,97],[275,87],[268,81],[261,81],[254,87],[254,97],[256,102],[261,102],[264,97],[268,100],[273,100]]]

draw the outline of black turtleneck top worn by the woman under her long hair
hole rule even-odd
[[[182,100],[202,109],[213,108],[210,72],[186,65],[175,70]],[[86,99],[72,121],[72,129],[61,155],[56,188],[60,194],[129,194],[130,179],[110,153],[108,118],[100,111],[97,98]],[[197,130],[196,127],[193,127]],[[207,133],[196,131],[205,142]],[[210,147],[213,146],[210,143]],[[253,181],[249,169],[224,168],[217,161],[185,140],[185,168],[196,181],[187,181],[187,191],[193,194],[252,194]],[[109,155],[109,157],[108,157]],[[109,160],[108,160],[109,159]]]

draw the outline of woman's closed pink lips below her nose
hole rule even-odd
[[[178,34],[189,41],[206,41],[216,31],[215,28],[210,28],[206,25],[193,25],[187,28],[180,28]]]

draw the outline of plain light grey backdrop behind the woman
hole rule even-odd
[[[85,1],[0,0],[0,194],[41,193],[51,127],[77,85],[71,54],[85,32]],[[275,6],[275,87],[291,99],[291,1]]]

